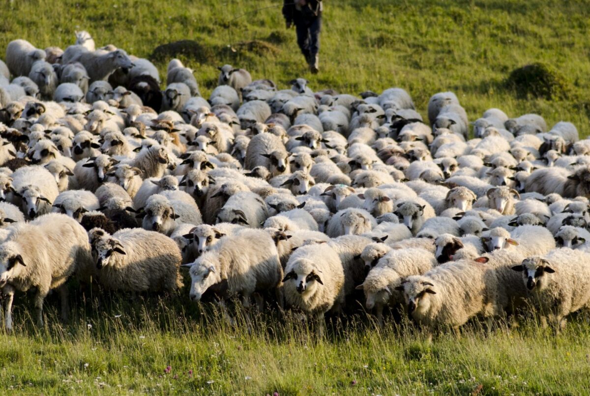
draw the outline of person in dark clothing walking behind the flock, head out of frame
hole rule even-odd
[[[313,74],[318,71],[322,0],[284,0],[283,16],[287,29],[295,25],[297,44]]]

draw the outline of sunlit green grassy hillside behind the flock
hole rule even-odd
[[[65,48],[76,29],[87,29],[98,45],[112,43],[157,60],[165,77],[166,62],[178,48],[156,58],[154,49],[190,39],[196,45],[185,47],[181,58],[196,70],[204,95],[217,81],[215,67],[231,62],[281,87],[299,76],[316,90],[358,94],[403,87],[423,114],[430,95],[451,90],[470,119],[499,107],[509,116],[542,114],[548,124],[569,120],[588,134],[588,1],[327,0],[317,76],[304,68],[280,5],[280,0],[4,1],[0,57],[15,38]],[[515,68],[538,61],[565,77],[564,100],[526,98],[503,84]]]

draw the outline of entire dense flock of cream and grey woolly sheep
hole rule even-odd
[[[496,108],[470,124],[450,92],[424,122],[401,88],[277,90],[230,65],[206,100],[179,60],[160,91],[148,60],[76,38],[15,40],[0,61],[6,328],[32,287],[39,324],[52,289],[66,319],[69,278],[320,320],[402,306],[430,330],[534,307],[559,331],[590,306],[590,140],[573,124]]]

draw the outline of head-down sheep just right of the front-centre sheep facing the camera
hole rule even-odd
[[[434,256],[427,250],[392,250],[379,260],[375,268],[369,271],[365,281],[356,286],[356,289],[365,292],[367,309],[376,307],[378,323],[383,326],[383,307],[403,302],[402,296],[396,291],[402,279],[406,276],[422,275],[436,265]]]

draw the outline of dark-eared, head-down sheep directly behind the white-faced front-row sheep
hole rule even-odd
[[[266,203],[260,196],[251,192],[238,192],[217,213],[215,223],[241,224],[245,227],[259,228],[268,217]]]

